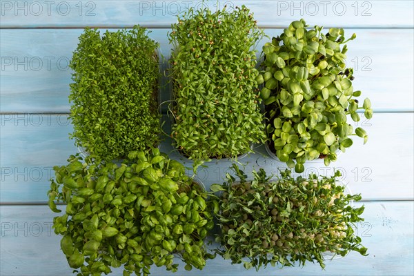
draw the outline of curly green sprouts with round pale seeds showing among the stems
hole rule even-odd
[[[299,261],[319,262],[324,268],[324,252],[346,255],[351,250],[366,255],[366,248],[355,235],[353,224],[362,221],[364,206],[353,208],[350,201],[360,195],[344,195],[345,187],[333,177],[307,178],[282,172],[275,180],[260,169],[254,179],[235,165],[237,179],[228,175],[216,199],[216,216],[221,225],[218,253],[233,264],[246,268],[271,264],[293,266]],[[248,259],[248,261],[246,261]]]

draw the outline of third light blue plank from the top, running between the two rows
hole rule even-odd
[[[66,115],[1,115],[0,119],[0,202],[47,201],[52,167],[66,164],[69,155],[77,152],[74,142],[68,139],[72,126]],[[165,116],[164,120],[169,132],[169,121]],[[404,127],[400,122],[404,122]],[[375,113],[373,119],[362,119],[358,126],[368,132],[366,145],[355,137],[353,146],[330,167],[326,168],[322,162],[307,163],[304,175],[311,172],[333,175],[337,168],[343,175],[340,180],[348,182],[353,193],[362,193],[364,200],[414,199],[413,113]],[[170,139],[161,144],[161,150],[191,166],[172,148]],[[264,168],[277,173],[278,169],[286,168],[270,159],[264,146],[256,150],[256,154],[239,160],[246,165],[246,172]],[[208,168],[200,168],[197,177],[208,188],[210,184],[221,183],[230,161],[212,161],[206,165]]]

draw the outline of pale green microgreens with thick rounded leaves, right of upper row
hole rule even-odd
[[[362,128],[353,129],[347,116],[359,121],[357,110],[371,119],[371,102],[363,106],[352,86],[353,69],[346,68],[344,29],[307,29],[303,19],[294,21],[272,43],[263,47],[266,71],[257,79],[265,82],[260,93],[266,105],[270,149],[296,172],[304,162],[324,158],[326,166],[337,159],[337,150],[352,146],[351,135],[364,138]],[[295,164],[295,161],[296,164]]]

